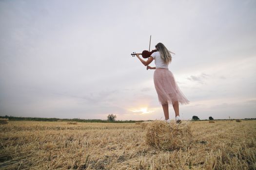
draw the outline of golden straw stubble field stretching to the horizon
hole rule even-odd
[[[9,121],[0,125],[2,170],[255,170],[256,120],[190,123],[192,141],[149,146],[135,123]]]

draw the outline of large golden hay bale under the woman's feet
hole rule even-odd
[[[147,124],[146,143],[163,150],[175,150],[187,147],[192,141],[190,123],[181,121],[167,123],[156,120]]]

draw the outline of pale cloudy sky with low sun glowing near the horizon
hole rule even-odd
[[[0,116],[164,119],[130,55],[152,35],[176,53],[181,119],[256,118],[255,0],[0,0],[0,25]]]

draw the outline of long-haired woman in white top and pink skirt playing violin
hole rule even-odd
[[[175,119],[180,123],[178,102],[181,104],[188,104],[188,99],[183,95],[174,79],[173,73],[168,69],[172,61],[170,51],[162,43],[156,45],[157,52],[152,53],[147,61],[144,61],[136,54],[141,63],[147,66],[147,69],[156,69],[154,72],[154,84],[158,93],[158,101],[163,107],[165,120],[169,123],[168,104],[172,104],[175,111]],[[156,67],[148,66],[155,60]]]

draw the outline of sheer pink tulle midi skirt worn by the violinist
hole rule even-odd
[[[161,104],[188,104],[189,100],[183,95],[174,79],[173,73],[166,68],[157,68],[154,72],[154,84]]]

